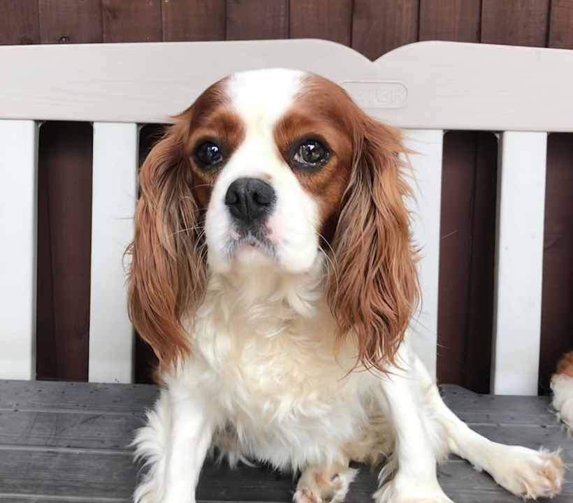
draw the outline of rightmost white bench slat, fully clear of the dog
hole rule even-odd
[[[492,392],[537,395],[547,134],[502,133]]]

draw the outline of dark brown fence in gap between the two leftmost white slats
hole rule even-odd
[[[38,199],[46,191],[49,203],[48,213],[38,214],[38,255],[50,247],[51,261],[38,261],[38,277],[51,275],[52,286],[37,291],[40,379],[87,379],[92,145],[89,124],[47,122],[40,129]]]

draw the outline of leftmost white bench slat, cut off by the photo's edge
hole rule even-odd
[[[36,379],[38,126],[0,120],[0,379]]]

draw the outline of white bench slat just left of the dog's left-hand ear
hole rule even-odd
[[[94,123],[90,382],[133,381],[123,254],[133,238],[137,165],[137,124]]]

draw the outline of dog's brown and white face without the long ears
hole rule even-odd
[[[213,272],[310,270],[332,238],[327,222],[351,173],[353,117],[344,105],[331,82],[254,71],[218,82],[181,117],[194,187],[208,189],[198,203]]]

